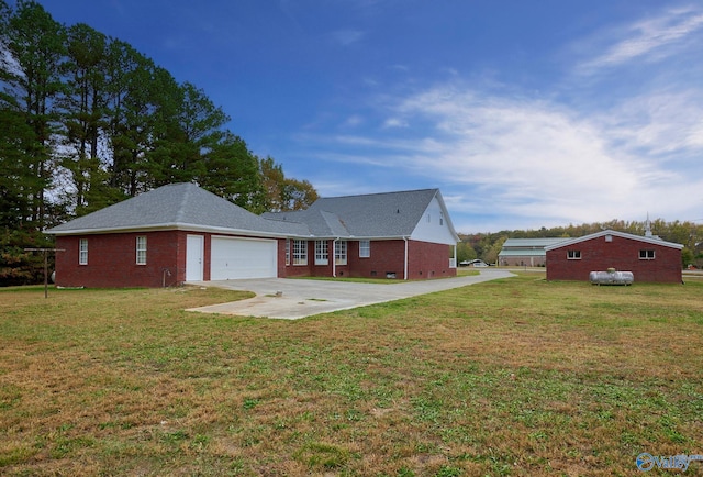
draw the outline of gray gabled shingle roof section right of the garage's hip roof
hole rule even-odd
[[[263,217],[308,224],[315,236],[410,236],[438,189],[321,198],[309,209]]]

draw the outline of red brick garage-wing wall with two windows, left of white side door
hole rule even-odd
[[[136,237],[141,235],[147,237],[146,265],[136,265]],[[78,264],[80,239],[88,240],[88,265]],[[185,278],[182,232],[57,236],[56,247],[65,249],[56,254],[56,285],[62,287],[161,287]]]

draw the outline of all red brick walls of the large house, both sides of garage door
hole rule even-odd
[[[203,279],[210,280],[210,233],[164,231],[144,233],[115,233],[104,235],[57,236],[56,246],[65,252],[56,254],[56,285],[62,287],[169,287],[186,281],[187,235],[204,239]],[[136,237],[147,239],[146,265],[136,265]],[[88,265],[78,264],[79,240],[88,240]],[[409,278],[438,278],[456,276],[449,268],[449,246],[409,241]],[[278,276],[332,276],[334,243],[330,241],[330,263],[316,266],[314,241],[308,242],[308,265],[286,266],[286,240],[278,241]],[[403,279],[405,242],[371,241],[371,256],[359,258],[359,243],[347,242],[347,265],[336,267],[338,277],[386,278],[394,273]],[[587,274],[588,278],[588,274]]]

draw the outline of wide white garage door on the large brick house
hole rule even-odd
[[[210,279],[269,278],[277,274],[275,240],[212,237]]]

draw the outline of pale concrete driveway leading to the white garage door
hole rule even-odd
[[[256,297],[230,303],[191,308],[188,311],[297,320],[313,314],[348,310],[512,276],[513,274],[507,270],[489,268],[475,276],[392,285],[289,278],[200,281],[192,285],[253,291]]]

